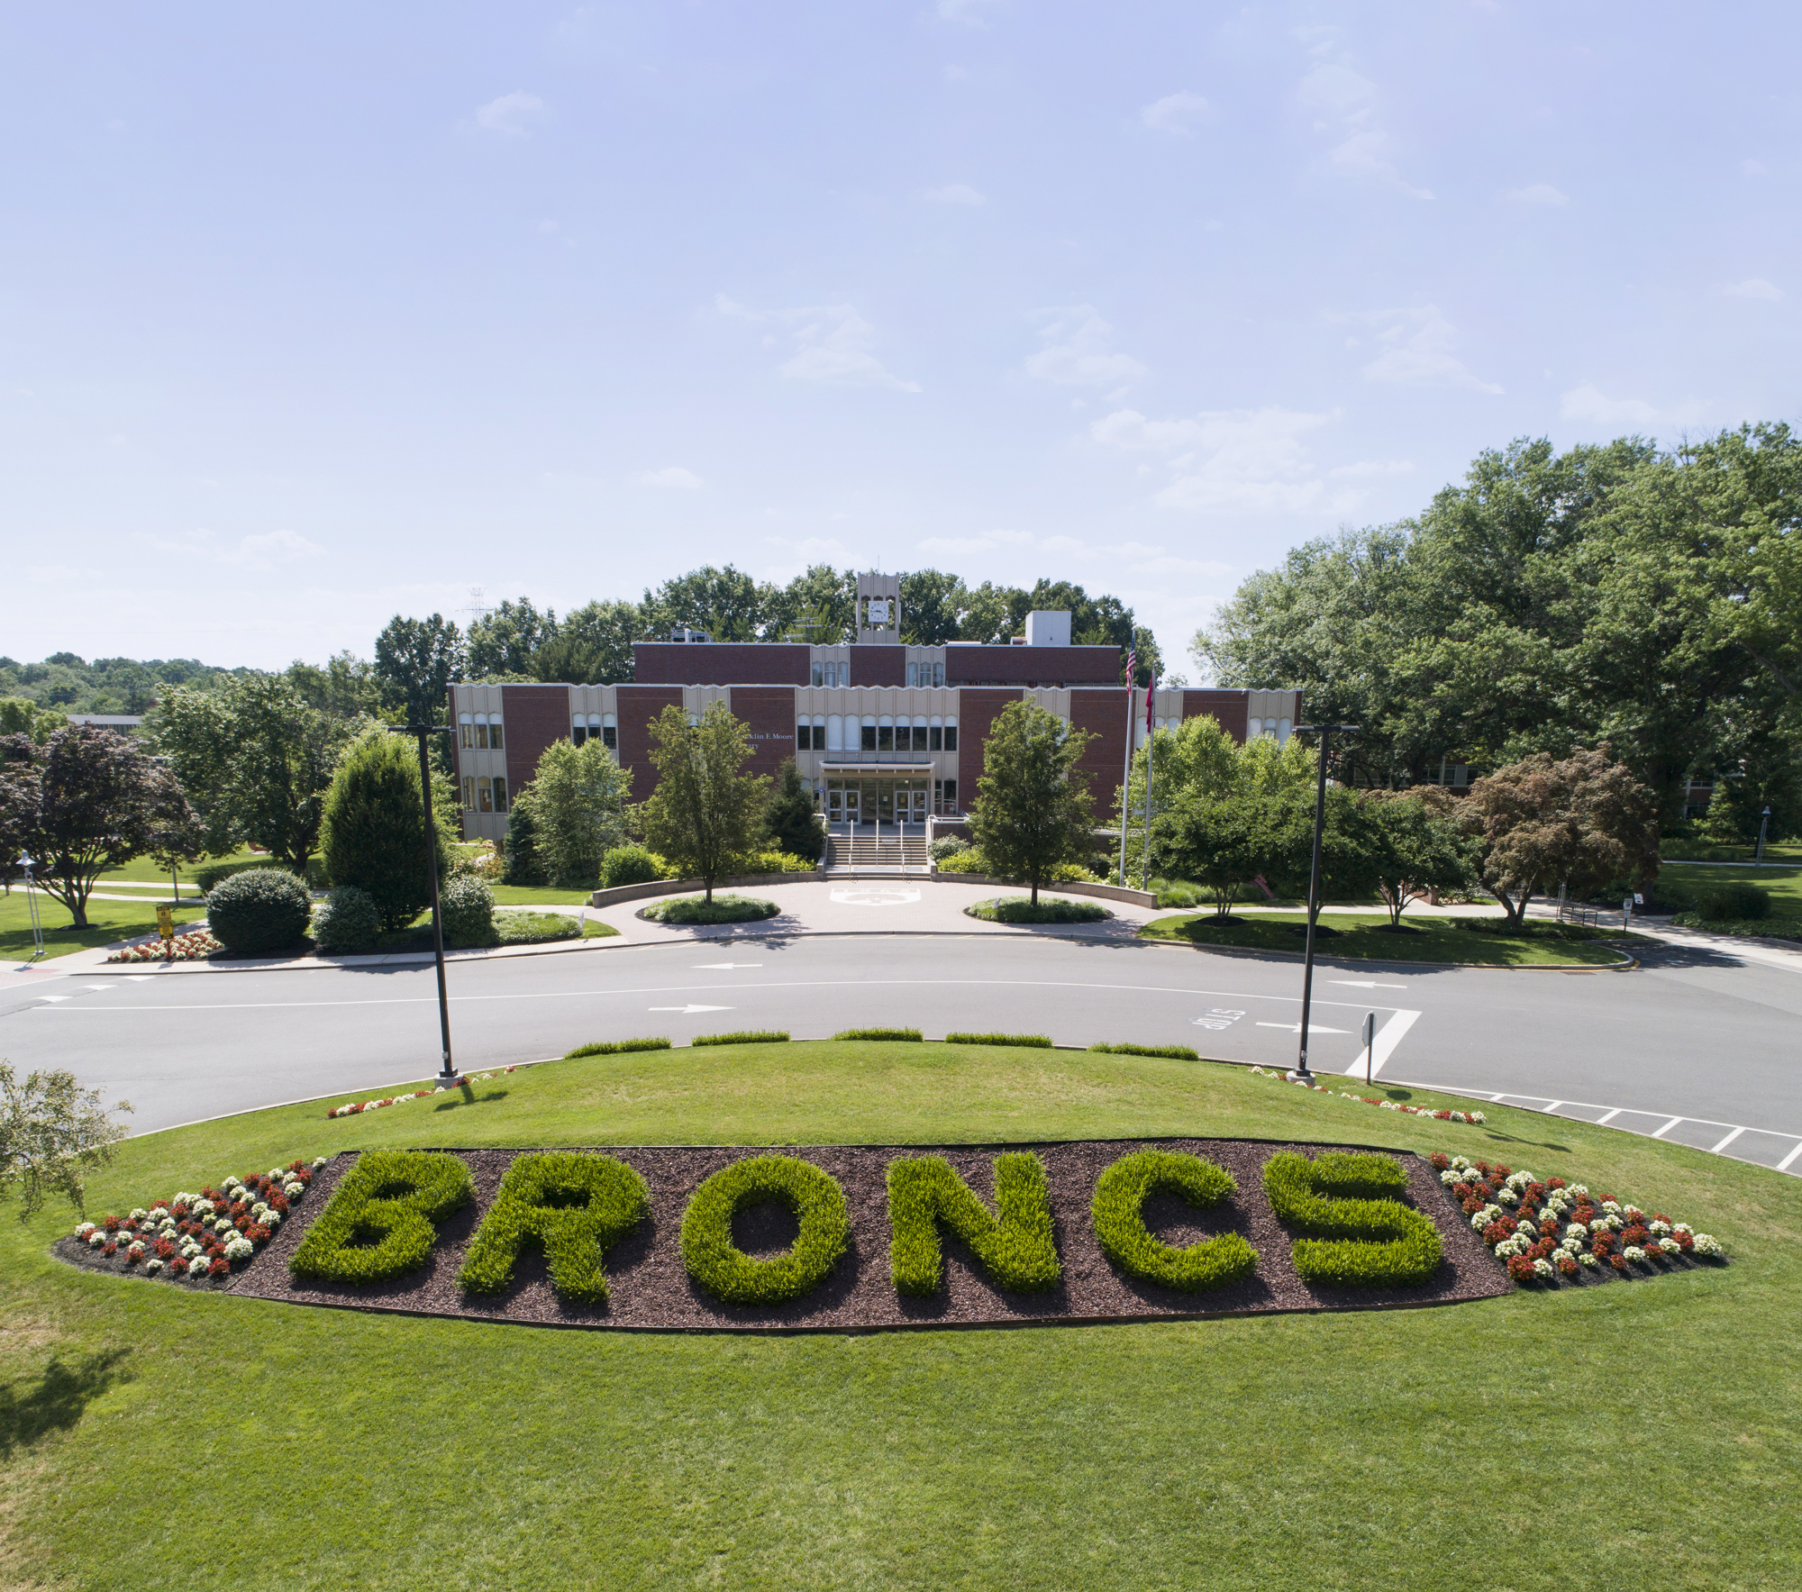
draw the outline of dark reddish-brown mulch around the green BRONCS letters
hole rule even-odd
[[[1238,1194],[1207,1212],[1193,1212],[1175,1198],[1146,1201],[1146,1225],[1171,1244],[1189,1244],[1216,1232],[1236,1230],[1258,1250],[1258,1270],[1252,1277],[1189,1295],[1126,1277],[1101,1253],[1088,1214],[1096,1178],[1126,1151],[1142,1147],[1193,1151],[1218,1162],[1234,1176]],[[651,1185],[651,1221],[607,1252],[611,1289],[607,1306],[560,1302],[551,1291],[542,1259],[532,1250],[521,1253],[514,1286],[505,1295],[465,1297],[456,1286],[463,1252],[479,1225],[481,1212],[494,1199],[514,1156],[528,1153],[506,1149],[452,1151],[474,1174],[476,1203],[438,1228],[438,1244],[429,1266],[368,1288],[301,1282],[287,1266],[306,1228],[324,1210],[339,1178],[355,1165],[353,1154],[337,1156],[315,1174],[303,1207],[231,1282],[231,1291],[290,1304],[559,1327],[845,1333],[890,1327],[1144,1322],[1265,1311],[1393,1309],[1490,1298],[1514,1288],[1501,1262],[1481,1237],[1470,1232],[1469,1221],[1440,1187],[1438,1174],[1407,1151],[1393,1154],[1407,1171],[1409,1203],[1425,1212],[1440,1230],[1445,1264],[1433,1282],[1416,1288],[1335,1289],[1312,1288],[1296,1275],[1290,1264],[1288,1232],[1263,1196],[1263,1162],[1269,1156],[1283,1149],[1308,1151],[1319,1145],[1216,1138],[978,1147],[807,1145],[786,1151],[771,1145],[769,1153],[802,1156],[838,1178],[851,1203],[851,1246],[833,1275],[805,1298],[777,1307],[737,1307],[715,1302],[683,1270],[681,1216],[690,1194],[705,1178],[764,1149],[681,1145],[602,1149],[636,1167]],[[899,1295],[888,1277],[888,1196],[883,1176],[887,1163],[905,1154],[944,1154],[971,1189],[993,1207],[993,1156],[998,1149],[1034,1149],[1045,1160],[1063,1282],[1042,1295],[1006,1293],[987,1280],[959,1239],[944,1234],[944,1291],[937,1298]],[[735,1239],[748,1253],[775,1255],[787,1248],[793,1237],[795,1221],[780,1207],[746,1210],[735,1225]]]

